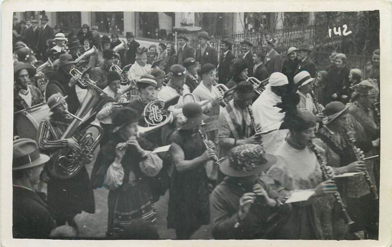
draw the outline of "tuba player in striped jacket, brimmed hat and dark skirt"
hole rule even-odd
[[[74,138],[60,139],[67,130],[73,117],[68,113],[66,98],[61,93],[53,94],[48,99],[48,107],[52,112],[49,117],[42,120],[38,129],[38,146],[41,152],[50,156],[44,171],[49,176],[48,204],[53,209],[54,219],[57,225],[73,226],[77,229],[74,217],[76,214],[86,211],[95,213],[94,193],[89,188],[89,175],[83,166],[76,176],[70,179],[58,179],[50,174],[48,165],[57,157],[53,153],[63,148],[80,150],[79,144]]]

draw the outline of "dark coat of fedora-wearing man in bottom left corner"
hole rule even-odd
[[[13,186],[11,225],[14,238],[49,238],[56,223],[43,199],[31,190]]]

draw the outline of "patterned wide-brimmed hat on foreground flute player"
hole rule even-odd
[[[275,156],[265,154],[260,145],[244,144],[232,148],[219,169],[229,177],[247,177],[267,171],[276,160]]]

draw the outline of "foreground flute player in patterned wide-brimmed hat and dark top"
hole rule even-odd
[[[260,179],[276,160],[256,144],[231,149],[219,167],[227,177],[211,196],[215,239],[281,239],[291,204]]]

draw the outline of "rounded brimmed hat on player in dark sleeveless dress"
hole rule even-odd
[[[182,108],[182,114],[187,118],[187,121],[182,124],[178,129],[189,130],[203,123],[203,121],[210,118],[203,114],[203,109],[196,102],[189,102]]]

